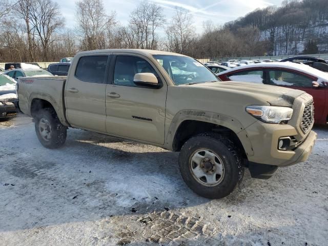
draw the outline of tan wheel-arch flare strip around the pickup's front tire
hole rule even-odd
[[[165,141],[166,149],[173,150],[175,134],[185,120],[209,122],[232,130],[238,136],[245,153],[248,156],[254,155],[251,141],[239,120],[228,115],[202,110],[181,110],[173,117]]]

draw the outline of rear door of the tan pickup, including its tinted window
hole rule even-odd
[[[76,57],[78,61],[65,86],[66,117],[73,127],[106,132],[105,91],[109,58],[107,54]]]

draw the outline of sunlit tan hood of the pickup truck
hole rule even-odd
[[[220,81],[189,85],[203,90],[229,91],[231,93],[247,93],[254,97],[267,101],[272,106],[292,107],[296,97],[304,94],[304,91],[294,90],[279,86],[259,85],[248,82]]]

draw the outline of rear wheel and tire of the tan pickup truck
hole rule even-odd
[[[67,127],[61,124],[53,109],[47,108],[39,110],[35,116],[35,132],[44,147],[56,149],[64,145]]]

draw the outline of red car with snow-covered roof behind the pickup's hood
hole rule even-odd
[[[305,91],[314,99],[315,122],[321,125],[328,122],[328,73],[304,64],[285,62],[249,65],[218,76],[223,81],[244,81]]]

